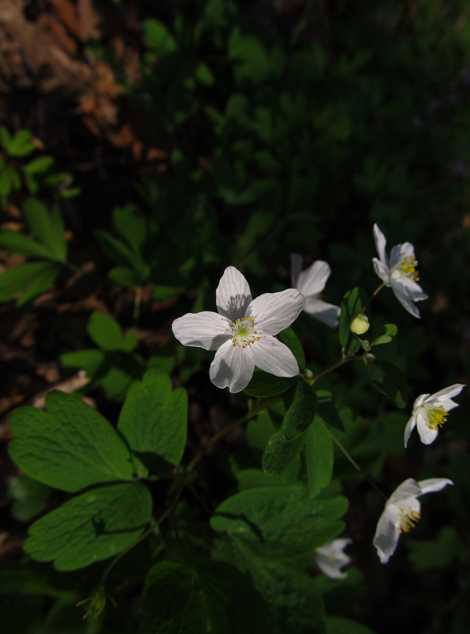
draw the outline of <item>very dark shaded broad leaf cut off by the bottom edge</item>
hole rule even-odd
[[[171,561],[153,566],[145,581],[139,634],[228,632],[232,583],[215,577],[215,566],[209,568],[212,574]]]

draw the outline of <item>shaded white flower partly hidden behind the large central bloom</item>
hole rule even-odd
[[[326,323],[331,328],[338,326],[340,307],[327,304],[319,297],[319,293],[325,288],[326,280],[331,274],[329,264],[317,260],[305,271],[302,271],[302,257],[297,253],[291,255],[291,280],[293,287],[300,290],[305,297],[305,313],[315,319]]]

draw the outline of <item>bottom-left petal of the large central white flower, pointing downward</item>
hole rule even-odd
[[[209,376],[217,387],[228,387],[231,392],[241,392],[250,383],[254,369],[251,346],[241,348],[227,341],[215,353]]]

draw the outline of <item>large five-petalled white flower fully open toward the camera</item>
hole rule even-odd
[[[277,377],[298,374],[294,355],[273,335],[298,317],[305,302],[303,295],[289,288],[252,300],[245,277],[229,266],[220,279],[215,300],[218,313],[187,313],[172,325],[176,339],[184,346],[217,350],[209,372],[213,384],[241,392],[250,382],[255,365]]]

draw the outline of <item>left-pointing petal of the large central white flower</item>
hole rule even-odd
[[[211,311],[186,313],[172,323],[173,334],[183,346],[217,350],[230,339],[225,332],[231,323],[227,318]]]

